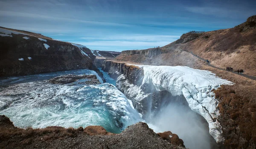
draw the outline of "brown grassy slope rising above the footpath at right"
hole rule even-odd
[[[183,34],[180,40],[190,36],[189,33]],[[198,37],[185,43],[179,43],[180,40],[164,46],[163,50],[168,52],[176,46],[210,60],[214,66],[231,66],[256,76],[256,16],[249,17],[245,23],[231,29],[198,34]]]

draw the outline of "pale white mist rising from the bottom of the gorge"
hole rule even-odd
[[[217,143],[209,134],[206,120],[193,112],[181,96],[174,98],[174,100],[169,99],[172,102],[159,107],[158,112],[150,118],[149,127],[155,132],[171,131],[177,134],[189,149],[218,148]]]

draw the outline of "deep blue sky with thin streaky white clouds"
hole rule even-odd
[[[0,26],[93,50],[165,46],[189,31],[232,28],[256,0],[0,0]]]

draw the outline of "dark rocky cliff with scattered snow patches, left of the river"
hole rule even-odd
[[[98,71],[85,46],[0,29],[0,77],[70,69]]]

